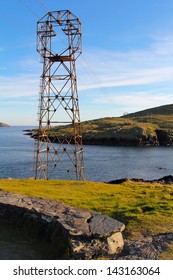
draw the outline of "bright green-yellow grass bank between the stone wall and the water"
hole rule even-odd
[[[43,197],[119,219],[129,238],[173,229],[173,185],[64,180],[0,180],[0,190]]]

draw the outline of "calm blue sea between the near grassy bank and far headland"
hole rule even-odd
[[[0,178],[34,176],[34,140],[23,132],[28,128],[32,127],[0,128]],[[124,177],[158,179],[173,175],[173,147],[85,145],[84,152],[89,181]]]

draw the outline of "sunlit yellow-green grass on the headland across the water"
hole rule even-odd
[[[100,139],[124,139],[125,141],[136,141],[144,136],[156,137],[156,130],[166,130],[168,134],[173,132],[172,115],[152,115],[131,118],[102,118],[81,123],[83,142],[94,141],[99,143]],[[71,126],[59,126],[52,128],[50,135],[55,133],[58,137],[72,135]],[[107,142],[109,143],[109,142]]]

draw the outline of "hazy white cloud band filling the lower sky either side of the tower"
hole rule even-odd
[[[7,106],[9,102],[14,107],[25,102],[37,106],[42,71],[38,62],[30,58],[14,62],[22,74],[0,76],[0,98]],[[154,38],[146,49],[88,51],[77,60],[77,78],[85,119],[173,103],[173,37]]]

